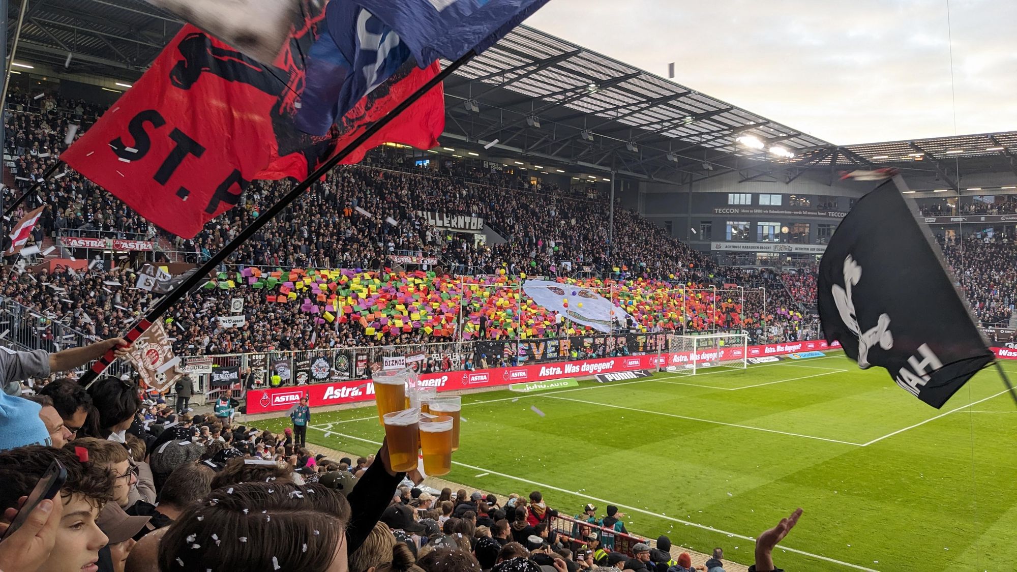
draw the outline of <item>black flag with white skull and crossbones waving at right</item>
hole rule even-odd
[[[994,358],[894,181],[837,227],[820,263],[819,309],[827,341],[933,407]]]

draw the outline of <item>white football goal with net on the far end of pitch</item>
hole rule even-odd
[[[695,376],[713,367],[743,369],[747,366],[749,336],[745,334],[704,334],[668,336],[667,359],[662,368]]]

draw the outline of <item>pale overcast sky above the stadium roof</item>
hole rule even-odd
[[[949,8],[551,0],[526,23],[664,77],[675,62],[678,83],[838,145],[1017,129],[1017,0]]]

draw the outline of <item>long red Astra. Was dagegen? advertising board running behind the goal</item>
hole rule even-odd
[[[779,355],[805,350],[823,350],[829,347],[830,345],[825,341],[810,341],[749,346],[747,349],[749,356],[753,357]],[[740,347],[724,348],[720,350],[721,354],[719,358],[740,358],[743,351]],[[1017,358],[1017,350],[1010,351],[1013,351],[1014,357]],[[712,359],[714,356],[704,352],[702,357]],[[654,354],[582,359],[579,361],[538,363],[516,367],[476,369],[473,371],[424,374],[420,376],[418,383],[424,387],[434,388],[437,391],[462,391],[506,386],[522,382],[544,382],[561,378],[587,378],[597,374],[651,369],[657,366],[685,363],[691,358],[692,353],[684,352],[662,354],[660,356]],[[247,392],[247,413],[285,411],[296,405],[303,395],[308,396],[311,407],[345,405],[347,403],[357,403],[374,399],[374,384],[369,380],[357,380],[333,384],[311,384],[297,387],[251,390]]]

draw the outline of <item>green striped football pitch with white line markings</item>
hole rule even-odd
[[[800,506],[775,554],[789,571],[1017,562],[1017,406],[994,369],[941,410],[842,354],[463,402],[444,478],[467,487],[540,491],[570,516],[616,505],[631,531],[745,564],[752,538]],[[382,436],[372,404],[314,413],[308,441],[367,455]]]

